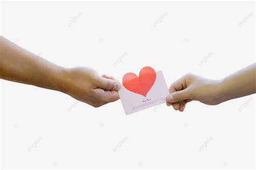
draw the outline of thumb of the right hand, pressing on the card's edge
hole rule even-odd
[[[175,103],[182,100],[190,99],[190,92],[188,89],[176,91],[166,97],[166,102]]]

